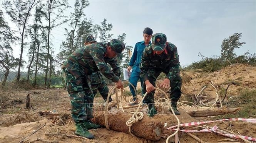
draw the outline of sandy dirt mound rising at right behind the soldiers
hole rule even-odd
[[[225,89],[230,84],[227,92],[229,96],[237,96],[241,89],[256,89],[256,67],[247,64],[235,64],[213,73],[188,72],[192,80],[190,85],[185,85],[186,95],[201,95],[216,98],[216,89],[219,96],[224,96]],[[215,88],[211,85],[211,81]],[[231,84],[232,83],[232,84]],[[206,88],[204,88],[206,86]],[[204,88],[202,92],[201,89]]]

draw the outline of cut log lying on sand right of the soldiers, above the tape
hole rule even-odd
[[[221,107],[186,111],[186,113],[191,115],[191,117],[208,117],[224,114],[235,114],[238,110],[240,110],[240,108]]]

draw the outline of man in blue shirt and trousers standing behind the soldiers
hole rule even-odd
[[[134,47],[134,52],[132,54],[132,57],[131,57],[131,60],[130,60],[130,63],[129,63],[129,67],[127,68],[128,72],[130,72],[131,68],[132,68],[132,73],[131,73],[131,77],[130,77],[130,80],[129,82],[135,87],[137,87],[137,82],[138,80],[140,79],[141,81],[141,88],[143,87],[143,78],[140,78],[140,63],[141,63],[141,55],[142,55],[142,52],[143,50],[145,49],[146,46],[148,46],[149,44],[151,44],[151,37],[152,37],[152,34],[153,34],[153,31],[151,28],[145,28],[144,31],[143,31],[143,38],[144,38],[144,41],[141,41],[141,42],[137,42],[135,44],[135,47]],[[134,97],[134,103],[132,103],[131,105],[136,105],[138,104],[138,101],[136,100],[136,91],[134,91],[133,87],[131,85],[129,85],[130,87],[130,90],[131,90],[131,93],[132,93],[132,96]],[[143,90],[142,90],[143,92]],[[145,93],[142,93],[142,95],[145,94]]]

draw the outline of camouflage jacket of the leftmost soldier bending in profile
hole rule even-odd
[[[66,67],[75,78],[100,71],[106,78],[117,82],[119,80],[117,75],[121,73],[120,66],[117,64],[115,57],[112,59],[105,57],[106,47],[107,44],[104,42],[84,46],[69,55],[62,68]],[[107,63],[110,64],[113,70],[107,66]],[[77,70],[79,72],[75,72]]]

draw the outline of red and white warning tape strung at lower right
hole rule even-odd
[[[202,124],[218,122],[218,121],[238,121],[238,120],[241,120],[241,121],[244,121],[244,122],[256,123],[256,119],[232,118],[232,119],[222,119],[222,120],[215,120],[215,121],[183,123],[183,124],[180,124],[180,126],[182,126],[182,127],[189,127],[189,126],[202,125]],[[177,130],[177,129],[174,129],[176,127],[177,127],[177,125],[169,127],[169,128],[167,128],[167,130]],[[245,138],[246,140],[256,141],[256,138],[252,138],[252,137],[249,137],[249,136],[243,136],[243,135],[239,135],[238,136],[238,135],[234,135],[234,134],[224,134],[224,133],[218,132],[217,129],[218,129],[218,127],[214,126],[211,129],[205,128],[203,130],[179,130],[179,131],[182,131],[182,132],[194,132],[194,133],[214,132],[214,133],[218,133],[220,135],[229,136],[229,137],[233,137],[233,138],[240,138],[241,137],[241,138]]]

